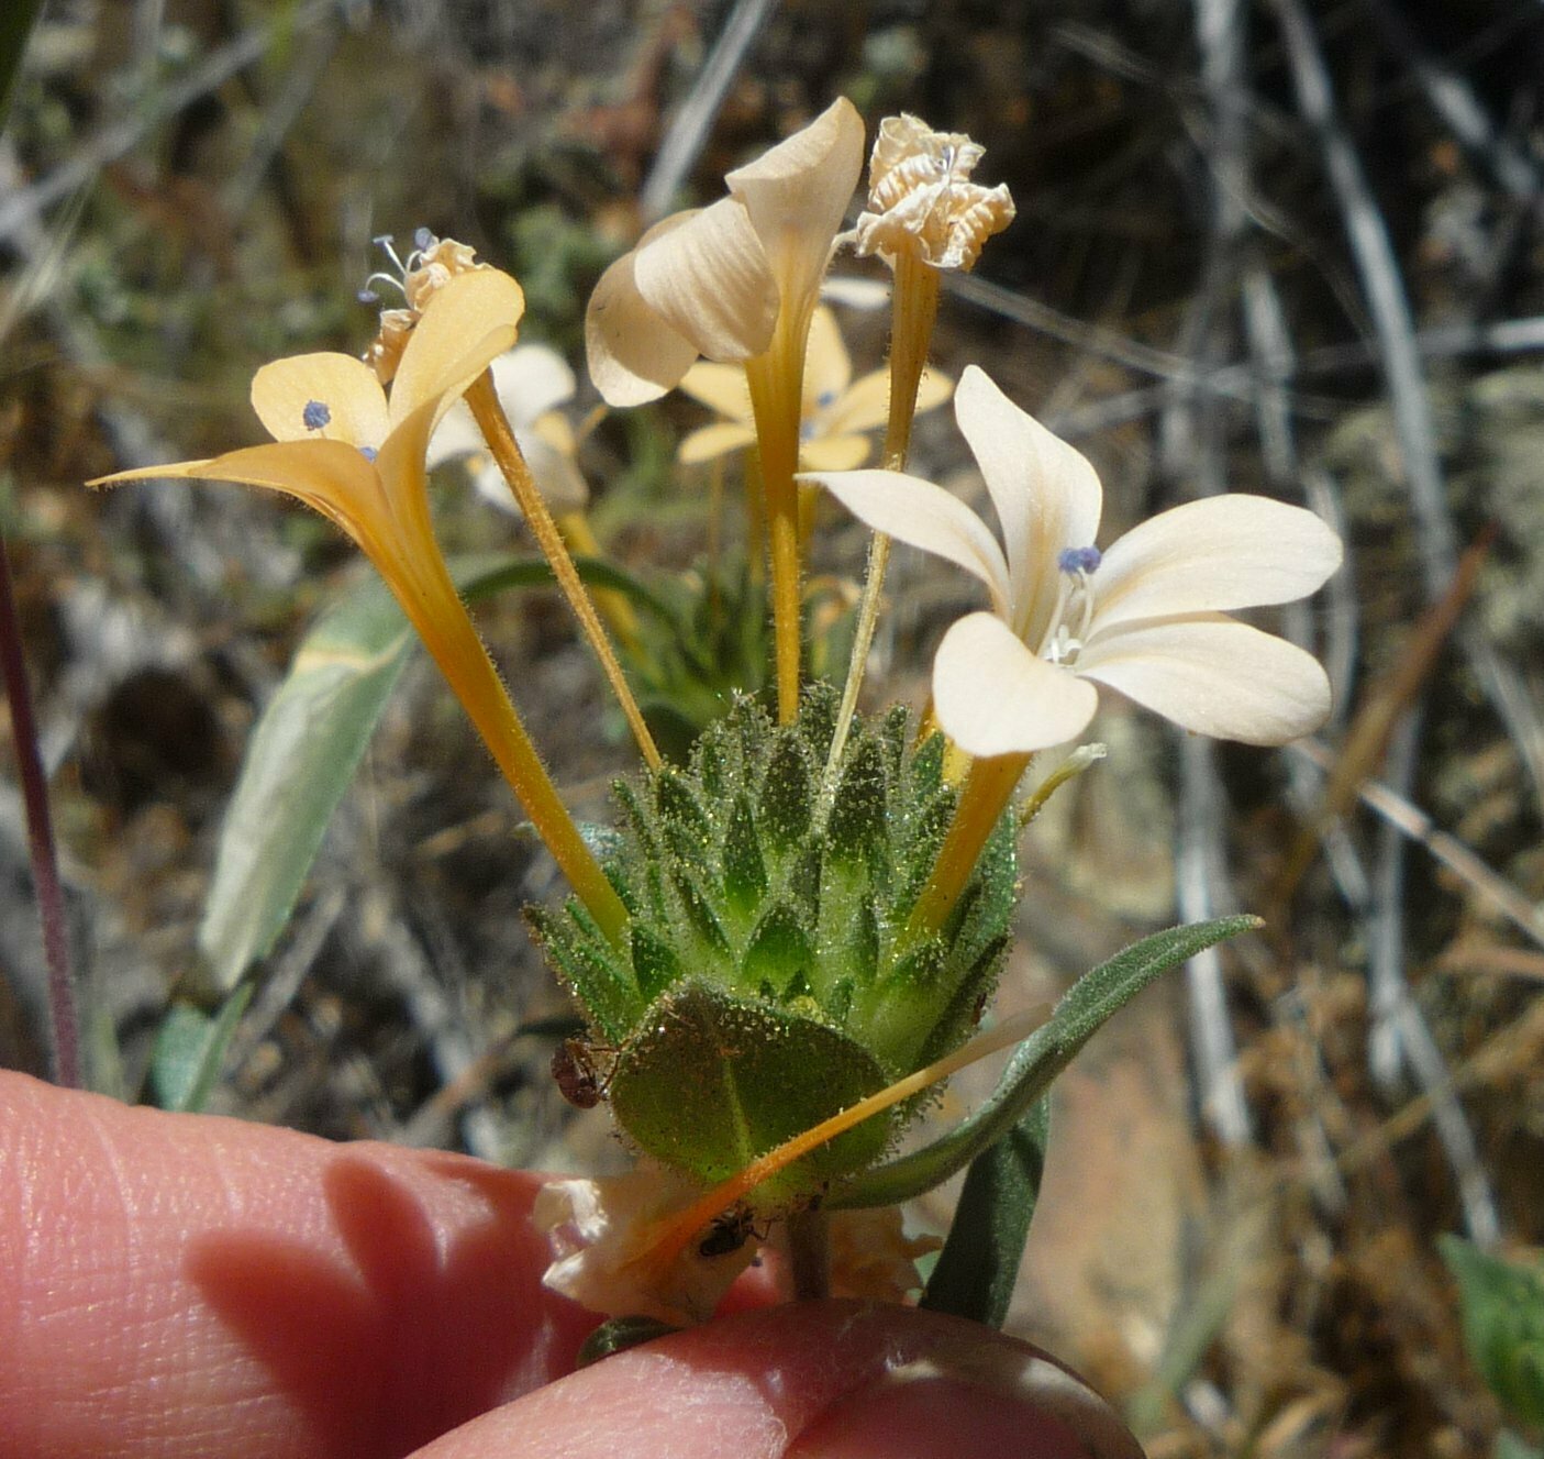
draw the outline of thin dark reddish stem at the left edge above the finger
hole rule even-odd
[[[0,671],[11,705],[11,737],[15,740],[17,774],[26,807],[26,845],[32,861],[37,917],[43,929],[43,960],[48,964],[48,1015],[54,1034],[54,1079],[65,1088],[80,1088],[80,1015],[69,968],[69,924],[59,884],[54,853],[54,822],[48,813],[48,779],[37,751],[37,720],[22,655],[22,626],[15,615],[11,558],[0,533]]]

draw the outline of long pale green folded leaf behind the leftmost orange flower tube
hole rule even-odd
[[[451,575],[469,598],[553,580],[543,561],[486,553],[459,558]],[[615,586],[611,575],[605,580]],[[219,992],[235,988],[284,929],[414,644],[401,609],[371,573],[295,651],[252,733],[219,835],[198,934]]]

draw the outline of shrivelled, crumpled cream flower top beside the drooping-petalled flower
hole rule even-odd
[[[970,181],[985,148],[959,131],[934,131],[914,116],[888,116],[869,159],[868,207],[852,230],[858,257],[914,249],[936,269],[971,269],[980,246],[1014,215],[1002,184]]]

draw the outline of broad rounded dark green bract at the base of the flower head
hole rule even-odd
[[[883,1085],[874,1059],[824,1023],[689,978],[650,1005],[608,1093],[630,1139],[713,1185]],[[874,1161],[888,1138],[888,1121],[865,1121],[758,1198],[811,1196]]]

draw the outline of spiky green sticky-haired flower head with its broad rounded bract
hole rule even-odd
[[[906,920],[956,791],[943,740],[891,709],[855,722],[823,790],[835,695],[778,728],[741,700],[689,765],[619,782],[602,864],[628,910],[610,943],[577,901],[531,920],[577,997],[608,1097],[647,1153],[716,1182],[963,1042],[1017,900],[1004,816],[937,934]],[[808,1199],[872,1164],[914,1105],[792,1165],[757,1204]]]

